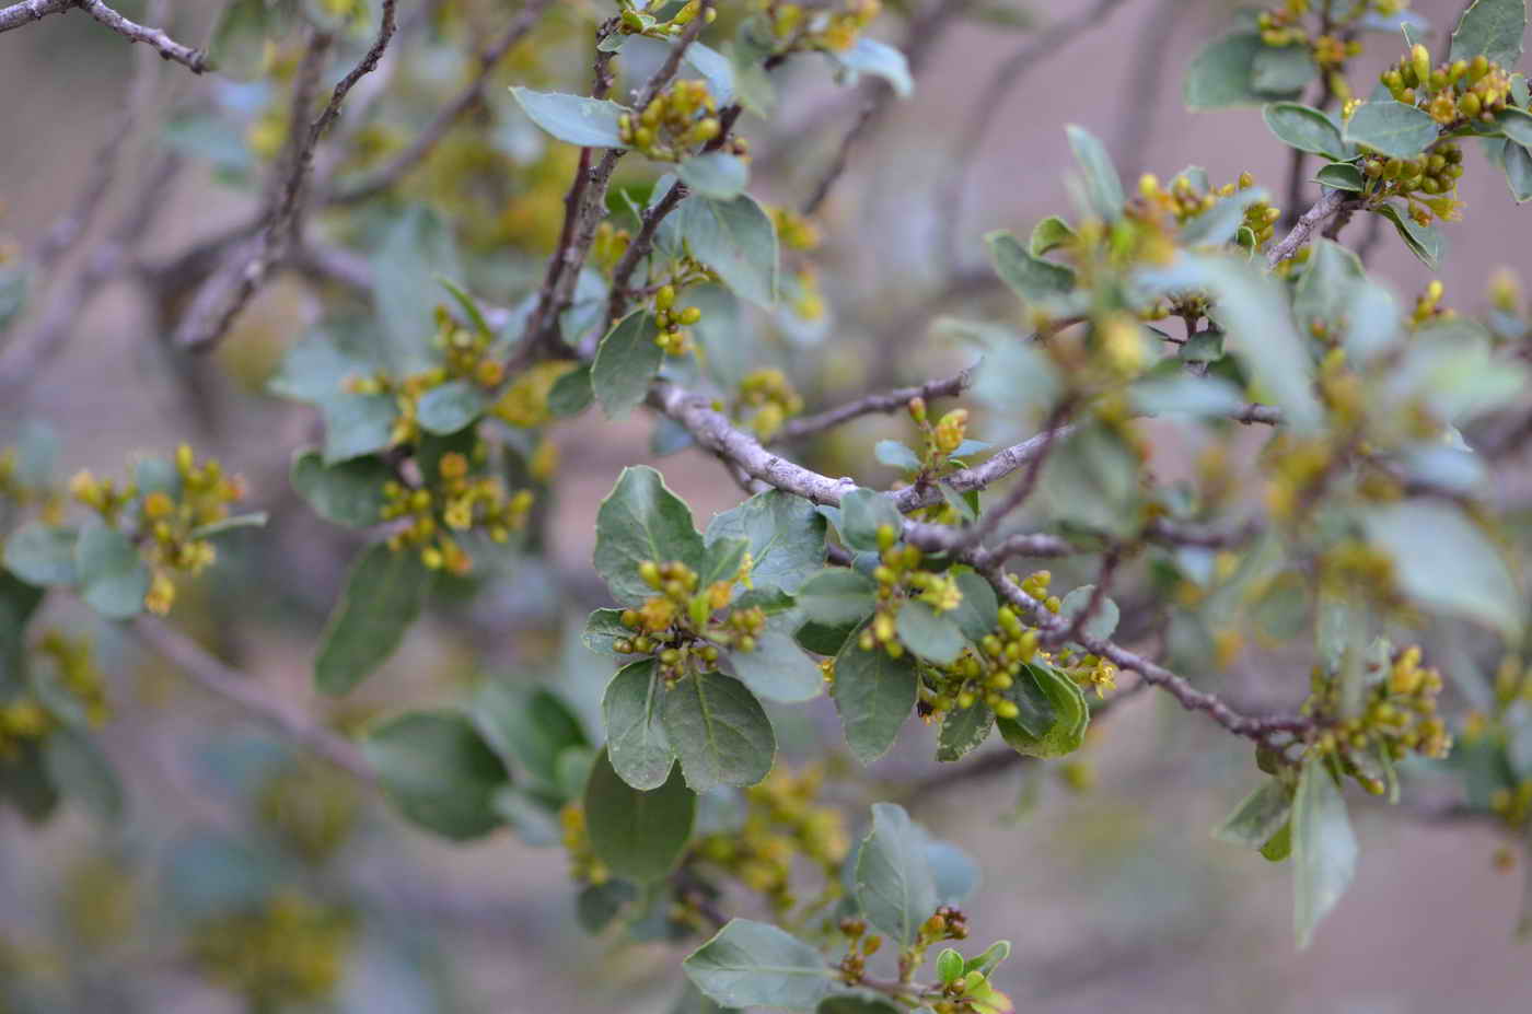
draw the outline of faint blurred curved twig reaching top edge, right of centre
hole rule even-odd
[[[962,130],[958,132],[958,139],[948,152],[945,185],[939,188],[935,202],[941,208],[938,253],[947,262],[958,262],[958,230],[962,224],[964,199],[970,190],[968,175],[979,161],[976,158],[979,149],[984,147],[984,138],[994,124],[1005,96],[1016,87],[1022,75],[1068,46],[1077,35],[1098,26],[1123,3],[1124,0],[1097,0],[1071,18],[1054,21],[1007,57],[996,67],[990,81],[979,89],[974,96],[973,112]]]

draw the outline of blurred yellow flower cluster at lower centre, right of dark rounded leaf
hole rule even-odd
[[[766,781],[745,790],[745,826],[737,833],[703,836],[696,846],[696,858],[764,895],[778,914],[798,904],[792,870],[803,859],[824,882],[810,908],[835,901],[841,893],[838,872],[850,852],[850,838],[841,812],[817,803],[823,786],[820,766],[798,774],[777,766]]]

